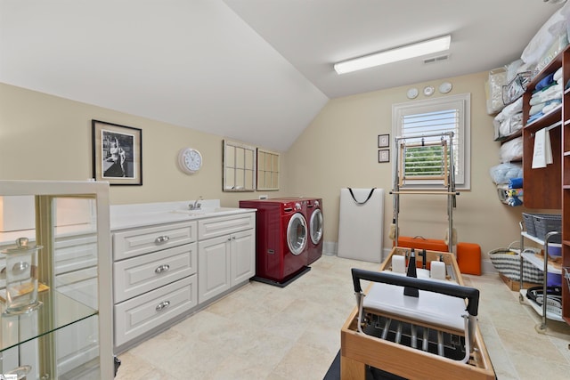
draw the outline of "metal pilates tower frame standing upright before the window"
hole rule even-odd
[[[398,246],[400,196],[444,195],[447,196],[447,239],[449,251],[455,253],[455,234],[453,230],[453,208],[456,197],[455,164],[453,151],[453,132],[426,133],[395,137],[398,154],[395,155],[393,190],[394,196],[394,241]],[[429,183],[429,190],[419,189],[417,185]],[[410,186],[408,186],[410,185]]]

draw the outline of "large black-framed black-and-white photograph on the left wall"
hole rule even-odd
[[[93,177],[110,185],[142,185],[142,130],[92,120]]]

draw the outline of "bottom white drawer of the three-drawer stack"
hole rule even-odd
[[[115,346],[150,332],[196,306],[196,275],[115,305]]]

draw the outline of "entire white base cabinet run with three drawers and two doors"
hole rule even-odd
[[[111,226],[115,352],[198,311],[255,275],[254,210],[191,216],[173,209],[161,204],[131,206],[132,217],[121,213],[128,226]],[[137,219],[140,225],[133,224]]]

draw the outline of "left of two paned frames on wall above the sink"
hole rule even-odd
[[[224,191],[256,190],[256,147],[224,140]]]

